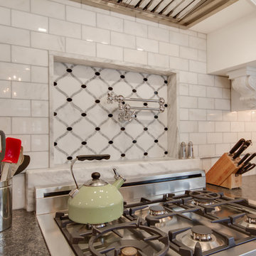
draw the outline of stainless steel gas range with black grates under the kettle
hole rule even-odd
[[[256,255],[256,204],[205,186],[202,170],[129,178],[123,215],[101,225],[68,218],[71,186],[36,188],[36,213],[53,256]]]

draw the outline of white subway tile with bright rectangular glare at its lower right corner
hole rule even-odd
[[[48,18],[41,15],[29,14],[24,11],[11,11],[11,25],[32,31],[48,32]]]

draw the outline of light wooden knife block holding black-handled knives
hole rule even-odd
[[[235,176],[240,168],[240,166],[237,166],[239,160],[234,161],[232,156],[228,156],[228,153],[223,154],[207,172],[206,182],[230,189],[238,188],[242,185],[242,176]]]

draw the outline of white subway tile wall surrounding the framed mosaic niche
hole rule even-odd
[[[208,158],[206,169],[240,137],[256,141],[256,114],[230,112],[228,79],[206,75],[205,34],[68,0],[0,0],[0,24],[0,129],[21,138],[30,169],[48,167],[53,146],[49,50],[176,70],[180,140],[192,141],[195,156]],[[14,208],[23,207],[18,178]]]

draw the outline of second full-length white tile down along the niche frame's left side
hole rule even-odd
[[[12,82],[12,97],[16,99],[48,100],[48,85],[35,82]]]

